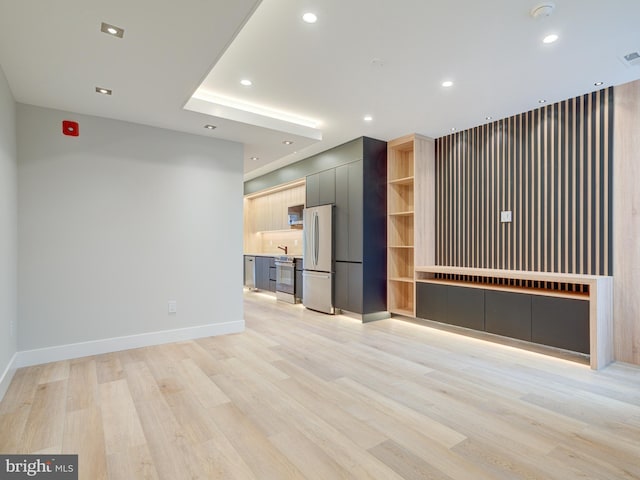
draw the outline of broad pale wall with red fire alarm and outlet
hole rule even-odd
[[[241,144],[22,104],[17,118],[19,350],[244,328]]]

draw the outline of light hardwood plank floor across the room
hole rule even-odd
[[[0,452],[96,479],[640,478],[640,369],[245,294],[245,333],[19,370]]]

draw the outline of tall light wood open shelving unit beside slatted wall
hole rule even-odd
[[[416,316],[415,262],[433,257],[433,141],[407,135],[387,144],[387,309]]]

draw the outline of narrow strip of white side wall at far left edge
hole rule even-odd
[[[17,345],[16,104],[0,67],[0,399]]]

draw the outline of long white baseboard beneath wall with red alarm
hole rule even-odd
[[[181,342],[184,340],[193,340],[195,338],[215,337],[217,335],[227,335],[243,331],[244,320],[238,320],[235,322],[214,323],[198,327],[142,333],[126,337],[105,338],[103,340],[57,345],[54,347],[38,348],[36,350],[23,350],[14,355],[12,363],[15,371],[16,368],[30,367],[32,365],[39,365],[42,363],[58,362],[60,360],[69,360],[71,358],[88,357],[91,355],[100,355],[102,353],[129,350],[131,348]],[[13,375],[11,376],[13,377]],[[1,398],[2,396],[0,396],[0,399]]]

